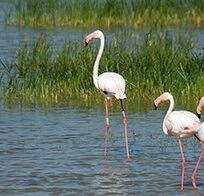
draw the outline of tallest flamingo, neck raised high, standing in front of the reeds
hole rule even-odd
[[[98,76],[98,68],[101,56],[104,50],[105,38],[104,34],[100,30],[96,30],[93,33],[86,36],[85,43],[86,45],[92,39],[100,39],[100,48],[98,55],[96,57],[94,68],[93,68],[93,82],[96,88],[103,94],[105,98],[105,108],[106,108],[106,140],[105,140],[105,150],[104,156],[106,156],[107,146],[108,146],[108,131],[109,131],[109,114],[108,114],[108,100],[115,96],[116,99],[120,100],[122,115],[123,115],[123,124],[124,124],[124,134],[125,134],[125,143],[126,143],[126,153],[127,158],[130,158],[129,149],[128,149],[128,133],[127,133],[127,119],[125,115],[125,110],[123,106],[123,99],[127,98],[125,94],[125,80],[118,73],[114,72],[105,72]]]

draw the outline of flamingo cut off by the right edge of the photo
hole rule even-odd
[[[202,97],[199,101],[199,104],[198,104],[198,107],[196,109],[196,112],[197,112],[197,116],[200,118],[201,116],[201,112],[202,112],[202,108],[204,107],[204,97]],[[201,123],[200,125],[200,130],[198,132],[198,139],[200,140],[200,143],[202,145],[202,151],[201,151],[201,154],[200,154],[200,157],[198,159],[198,162],[196,164],[196,167],[195,167],[195,170],[191,176],[191,179],[192,179],[192,184],[194,187],[196,187],[196,183],[195,183],[195,175],[196,175],[196,172],[198,170],[198,166],[202,160],[202,157],[203,157],[203,154],[204,154],[204,122]]]

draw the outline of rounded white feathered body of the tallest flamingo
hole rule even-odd
[[[112,95],[114,95],[117,99],[126,98],[125,85],[124,78],[114,72],[105,72],[98,77],[99,90],[107,99],[109,99]]]

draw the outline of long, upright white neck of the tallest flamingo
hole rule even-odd
[[[103,35],[100,36],[99,39],[100,39],[101,44],[100,44],[100,49],[98,51],[98,55],[96,57],[96,61],[94,63],[94,69],[93,69],[93,81],[94,81],[94,85],[96,86],[96,88],[98,88],[98,67],[99,67],[101,56],[103,54],[104,42],[105,42]]]

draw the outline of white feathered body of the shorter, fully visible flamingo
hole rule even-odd
[[[165,120],[168,132],[179,138],[188,138],[198,133],[200,120],[192,112],[174,111]]]

